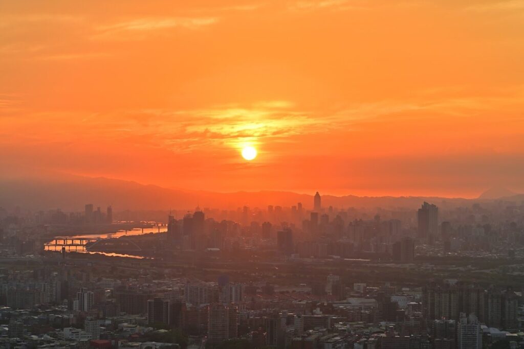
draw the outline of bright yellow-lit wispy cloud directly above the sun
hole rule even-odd
[[[263,101],[250,106],[230,104],[174,112],[150,110],[147,127],[161,129],[166,144],[179,151],[190,150],[195,143],[239,147],[246,142],[301,134],[319,123],[319,119],[306,112],[288,109],[291,106],[286,101]],[[188,144],[191,148],[187,148]]]

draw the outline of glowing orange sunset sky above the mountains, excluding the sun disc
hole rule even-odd
[[[524,191],[519,0],[3,1],[0,32],[7,176]]]

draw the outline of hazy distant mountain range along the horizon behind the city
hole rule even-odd
[[[0,179],[0,207],[20,206],[29,210],[61,208],[63,210],[83,210],[84,204],[92,203],[105,207],[113,205],[117,211],[129,210],[168,210],[193,209],[200,207],[236,209],[244,205],[267,207],[268,205],[292,206],[302,202],[304,209],[311,209],[313,194],[292,192],[261,191],[214,193],[197,190],[177,190],[156,185],[143,185],[136,182],[108,178],[90,178],[71,176],[60,181],[37,179]],[[322,194],[322,193],[321,193]],[[442,208],[471,205],[504,198],[508,201],[522,201],[524,195],[507,189],[490,189],[477,199],[442,198],[442,197],[359,197],[354,195],[323,195],[324,207],[339,208],[389,208],[415,209],[423,201],[428,201]]]

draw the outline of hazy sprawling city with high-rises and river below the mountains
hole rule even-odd
[[[130,213],[93,204],[2,209],[0,343],[520,347],[522,195],[445,210],[310,198],[168,211],[159,222],[119,220]]]

